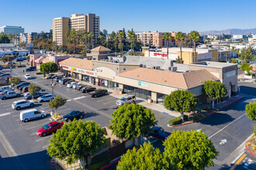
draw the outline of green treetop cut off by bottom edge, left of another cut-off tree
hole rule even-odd
[[[154,148],[150,142],[144,143],[137,151],[134,147],[126,152],[118,162],[117,170],[126,169],[168,169],[168,162],[164,159],[161,151]],[[175,169],[175,168],[172,168]]]

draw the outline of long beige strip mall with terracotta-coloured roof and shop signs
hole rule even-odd
[[[189,90],[206,102],[202,85],[206,80],[220,81],[227,86],[227,97],[237,94],[237,64],[202,62],[184,65],[182,72],[143,68],[140,64],[112,63],[101,60],[69,58],[60,62],[65,76],[71,75],[93,85],[119,93],[130,93],[163,104],[164,97],[174,90]]]

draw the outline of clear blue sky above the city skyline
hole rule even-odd
[[[199,32],[256,28],[256,0],[9,0],[1,2],[0,26],[49,32],[52,21],[94,13],[100,29],[135,32]]]

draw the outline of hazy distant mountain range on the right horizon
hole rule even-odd
[[[256,34],[256,28],[255,29],[225,29],[221,31],[205,31],[205,32],[200,32],[202,35],[213,35],[213,34],[231,34],[231,35],[236,35],[236,34]]]

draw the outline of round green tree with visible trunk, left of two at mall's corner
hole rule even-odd
[[[175,90],[164,98],[164,107],[168,110],[175,110],[182,114],[184,121],[184,112],[189,113],[196,110],[198,100],[195,94],[189,90]]]

